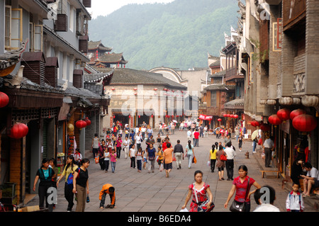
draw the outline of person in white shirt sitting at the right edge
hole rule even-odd
[[[318,169],[315,169],[310,162],[306,162],[304,164],[305,169],[307,171],[307,175],[301,175],[303,178],[303,196],[310,196],[311,187],[318,188],[319,186],[319,172]]]

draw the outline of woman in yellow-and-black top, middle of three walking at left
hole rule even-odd
[[[59,183],[62,180],[62,178],[65,176],[65,199],[67,200],[67,212],[72,211],[72,207],[74,205],[73,198],[74,193],[72,192],[72,184],[67,184],[67,179],[69,177],[69,174],[74,174],[74,171],[76,171],[78,168],[77,164],[74,161],[74,157],[72,155],[69,155],[67,157],[67,165],[65,166],[65,169],[63,170],[60,178],[57,180],[57,187],[59,187]]]

